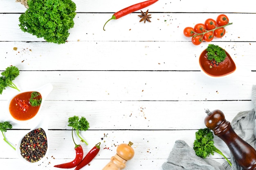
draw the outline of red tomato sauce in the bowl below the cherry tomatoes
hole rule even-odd
[[[224,61],[210,68],[212,61],[207,59],[207,51],[204,50],[199,57],[200,67],[209,76],[221,77],[228,75],[236,70],[236,64],[234,63],[234,61],[231,59],[230,55],[227,52],[226,54],[227,57],[225,58]]]

